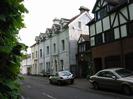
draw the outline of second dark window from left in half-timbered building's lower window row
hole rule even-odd
[[[105,42],[111,42],[114,40],[114,31],[108,30],[104,33]]]

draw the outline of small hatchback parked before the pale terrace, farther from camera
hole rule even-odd
[[[63,83],[74,83],[74,76],[69,71],[60,71],[57,72],[55,75],[49,77],[49,82],[51,84],[58,84],[61,85]]]

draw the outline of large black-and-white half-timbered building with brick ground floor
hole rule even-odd
[[[97,0],[88,23],[94,69],[133,70],[133,0]]]

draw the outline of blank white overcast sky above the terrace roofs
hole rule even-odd
[[[27,46],[35,43],[35,36],[45,33],[46,28],[51,28],[53,19],[67,18],[78,15],[80,6],[85,6],[91,11],[96,0],[25,0],[24,5],[29,13],[24,16],[26,28],[19,32],[21,42]],[[93,17],[93,15],[91,14]]]

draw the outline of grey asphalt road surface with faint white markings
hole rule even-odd
[[[21,81],[22,99],[133,99],[133,96],[116,93],[82,90],[73,85],[51,85],[47,78],[25,76]]]

